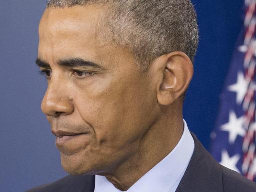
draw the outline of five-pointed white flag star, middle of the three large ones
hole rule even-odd
[[[244,136],[246,131],[243,128],[244,117],[237,118],[234,111],[229,112],[229,122],[221,126],[221,130],[229,132],[229,144],[233,144],[238,135]]]

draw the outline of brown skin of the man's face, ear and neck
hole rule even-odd
[[[181,97],[193,66],[172,52],[142,72],[129,50],[101,38],[104,11],[99,5],[45,10],[38,58],[49,66],[40,67],[48,78],[41,108],[54,134],[86,133],[57,143],[67,172],[104,175],[127,190],[179,141]],[[70,58],[101,68],[58,64]]]

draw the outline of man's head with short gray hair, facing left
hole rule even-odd
[[[39,38],[42,111],[66,171],[129,167],[178,135],[198,42],[189,0],[49,0]]]

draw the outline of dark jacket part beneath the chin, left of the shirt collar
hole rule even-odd
[[[93,191],[95,185],[95,177],[90,175],[72,176],[68,175],[60,180],[50,184],[44,184],[27,192],[82,192]]]

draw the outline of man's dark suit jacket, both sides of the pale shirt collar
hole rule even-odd
[[[218,164],[196,136],[193,138],[194,153],[176,192],[256,192],[255,182]],[[93,192],[94,187],[95,176],[69,175],[27,192]]]

